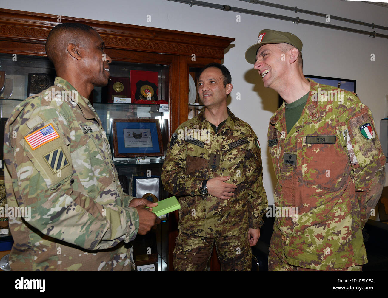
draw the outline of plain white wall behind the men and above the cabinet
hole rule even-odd
[[[322,17],[295,14],[288,10],[237,0],[207,0],[206,2],[325,22]],[[348,19],[374,22],[388,27],[386,17],[388,8],[369,3],[340,0],[271,0],[269,2],[297,6],[300,9]],[[244,59],[246,49],[256,42],[261,29],[292,32],[303,41],[305,74],[355,79],[357,93],[362,102],[372,110],[378,131],[379,120],[385,116],[385,95],[388,94],[386,54],[388,40],[384,38],[372,38],[367,35],[293,24],[289,21],[248,14],[240,14],[240,22],[237,22],[235,12],[194,5],[189,7],[187,4],[166,0],[68,0],[67,2],[1,0],[0,7],[236,38],[236,41],[227,49],[223,61],[232,74],[233,91],[229,108],[237,117],[247,121],[258,135],[262,146],[263,181],[269,203],[274,202],[272,191],[276,181],[267,150],[267,128],[269,118],[277,109],[277,94],[263,87],[257,72]],[[151,22],[147,22],[147,15],[151,16]],[[365,26],[334,20],[331,20],[330,24],[373,31]],[[375,30],[378,33],[388,34],[388,31]],[[375,61],[371,61],[372,53],[375,55]],[[241,93],[241,100],[236,99],[237,92]]]

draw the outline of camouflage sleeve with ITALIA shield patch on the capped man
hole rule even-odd
[[[385,183],[385,156],[376,134],[371,110],[356,102],[339,117],[339,137],[353,168],[361,226],[371,215]]]

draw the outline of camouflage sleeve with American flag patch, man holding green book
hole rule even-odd
[[[24,136],[36,128],[28,127],[26,120],[29,117],[36,119],[37,112],[39,120],[44,122],[40,127],[49,123],[58,131],[59,137],[31,150]],[[28,116],[23,116],[20,123],[16,120],[11,126],[7,125],[4,147],[7,197],[16,200],[19,206],[31,207],[28,224],[49,237],[88,250],[106,249],[134,239],[139,229],[135,208],[123,208],[121,202],[116,204],[116,197],[109,189],[99,189],[96,197],[87,195],[80,173],[74,171],[74,162],[84,164],[86,171],[88,160],[72,159],[70,142],[76,142],[76,136],[64,117],[48,107],[35,109]],[[85,148],[88,147],[82,146],[78,150]],[[49,172],[44,159],[47,152],[53,150],[61,151],[65,157],[62,160],[68,163],[60,172]],[[103,163],[101,160],[101,167],[106,166]],[[101,184],[97,181],[96,185]]]

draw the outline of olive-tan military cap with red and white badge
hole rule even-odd
[[[263,29],[260,31],[257,42],[245,52],[245,59],[250,64],[255,64],[257,50],[267,43],[289,43],[302,52],[302,41],[296,35],[288,32]]]

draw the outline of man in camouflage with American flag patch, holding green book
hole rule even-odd
[[[101,121],[87,99],[111,59],[93,28],[56,26],[47,56],[54,86],[24,100],[5,129],[5,183],[14,238],[12,270],[130,270],[132,246],[159,219],[123,193]],[[135,207],[135,208],[133,208]]]

